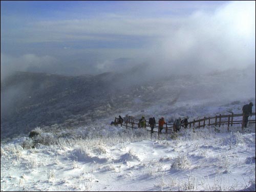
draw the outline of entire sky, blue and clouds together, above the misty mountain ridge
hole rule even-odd
[[[254,1],[1,1],[1,71],[94,74],[119,58],[245,67],[255,60],[253,16]]]

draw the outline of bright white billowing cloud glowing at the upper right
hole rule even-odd
[[[148,56],[158,68],[200,73],[255,65],[255,2],[197,11],[176,26],[152,44]]]

